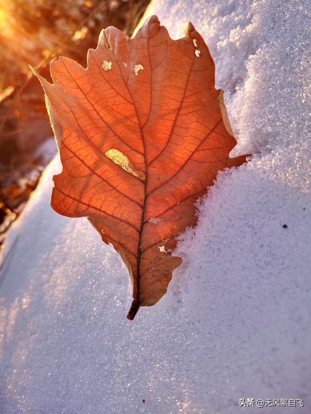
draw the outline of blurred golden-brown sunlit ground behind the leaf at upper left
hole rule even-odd
[[[56,153],[41,85],[65,55],[86,66],[101,30],[131,35],[150,0],[0,0],[0,249]]]

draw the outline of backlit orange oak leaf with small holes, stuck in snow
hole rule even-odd
[[[191,23],[177,41],[155,16],[134,39],[109,27],[86,69],[60,57],[51,73],[54,84],[37,76],[63,164],[52,208],[88,217],[121,254],[133,319],[165,294],[180,265],[171,253],[175,237],[196,223],[194,201],[245,156],[228,157],[236,140],[222,121],[213,61]]]

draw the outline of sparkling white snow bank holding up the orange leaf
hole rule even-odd
[[[219,174],[167,295],[133,322],[125,266],[86,219],[52,211],[48,166],[2,255],[1,414],[309,413],[309,1],[155,0],[147,14],[204,35],[232,155],[256,155]]]

